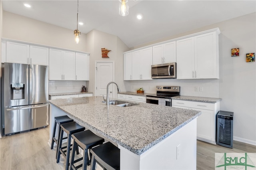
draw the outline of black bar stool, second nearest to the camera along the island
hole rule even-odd
[[[75,148],[77,145],[80,146],[80,148],[82,148],[84,151],[84,153],[83,153],[84,156],[82,158],[78,158],[77,160],[74,160],[75,150],[72,150],[69,169],[77,170],[78,168],[82,167],[82,170],[86,170],[87,165],[90,165],[90,160],[92,158],[92,156],[90,154],[90,160],[89,160],[88,153],[90,153],[90,150],[92,147],[103,144],[104,138],[97,136],[90,130],[85,130],[82,132],[74,133],[74,134],[72,134],[72,138],[73,138],[73,148]],[[89,150],[89,152],[88,152],[88,150]],[[78,166],[74,165],[76,162],[79,162],[81,160],[83,160],[82,164],[80,164]]]

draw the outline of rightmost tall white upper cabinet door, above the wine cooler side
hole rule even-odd
[[[195,41],[195,78],[219,78],[216,32],[194,37]]]

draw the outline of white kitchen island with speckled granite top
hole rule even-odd
[[[49,141],[54,117],[68,115],[120,148],[122,170],[196,169],[196,118],[200,111],[149,103],[106,106],[102,96],[49,103]]]

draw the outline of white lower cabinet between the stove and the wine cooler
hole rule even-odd
[[[216,144],[216,115],[220,102],[205,103],[172,99],[172,107],[201,111],[197,119],[197,139]]]

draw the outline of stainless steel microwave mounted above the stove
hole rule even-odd
[[[176,63],[151,65],[152,79],[176,79]]]

